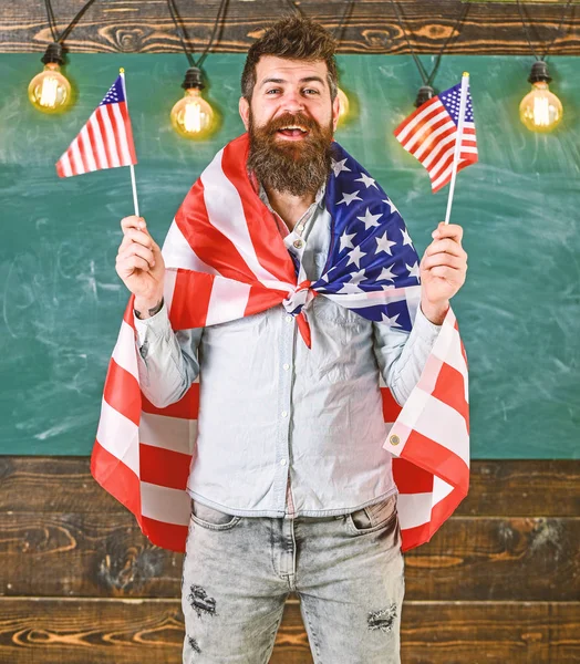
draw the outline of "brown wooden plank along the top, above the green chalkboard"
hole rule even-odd
[[[180,17],[199,53],[208,42],[220,0],[177,1]],[[80,0],[53,1],[58,30],[62,31],[82,3]],[[299,2],[301,10],[335,31],[344,11],[344,0]],[[466,7],[467,4],[467,7]],[[437,53],[449,39],[448,53],[529,54],[529,45],[515,2],[472,2],[460,0],[398,0],[404,27],[417,53]],[[552,54],[580,53],[580,15],[571,8],[562,37]],[[454,31],[462,11],[466,17]],[[562,15],[561,2],[540,2],[525,8],[531,35],[541,53]],[[263,25],[291,12],[286,3],[268,0],[230,2],[215,51],[246,52],[263,31]],[[0,17],[0,52],[43,51],[52,41],[43,0],[3,3]],[[165,2],[115,0],[95,2],[66,39],[71,53],[170,53],[182,52],[175,27]],[[342,53],[408,53],[404,34],[390,3],[359,0],[344,30]]]

